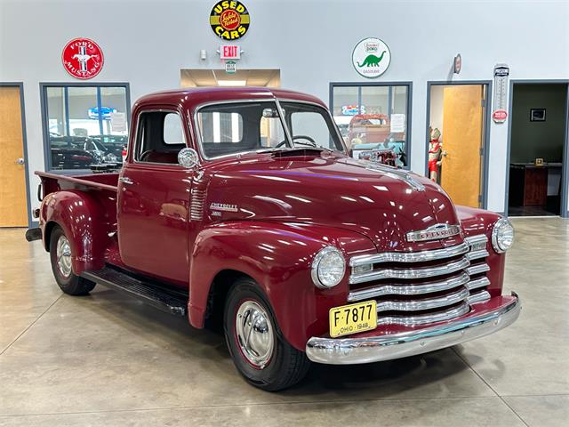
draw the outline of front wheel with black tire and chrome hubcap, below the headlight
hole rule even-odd
[[[286,342],[267,299],[251,278],[240,278],[232,286],[223,323],[231,358],[255,387],[283,390],[308,372],[309,359]]]

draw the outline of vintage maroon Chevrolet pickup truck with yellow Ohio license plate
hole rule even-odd
[[[404,358],[492,334],[513,228],[415,173],[349,157],[325,104],[267,88],[154,93],[120,173],[41,177],[63,292],[111,286],[222,326],[236,368],[276,391],[309,362]]]

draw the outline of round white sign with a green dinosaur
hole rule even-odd
[[[352,63],[364,77],[380,77],[389,67],[391,52],[379,38],[368,37],[356,44],[352,52]]]

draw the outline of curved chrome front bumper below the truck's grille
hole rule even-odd
[[[312,337],[306,344],[310,360],[329,365],[355,365],[400,359],[445,349],[493,334],[514,323],[522,306],[517,294],[500,308],[451,323],[401,334],[365,338]]]

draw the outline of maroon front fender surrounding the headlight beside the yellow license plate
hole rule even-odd
[[[338,247],[347,262],[375,247],[354,231],[305,224],[223,222],[202,230],[190,260],[190,323],[204,325],[215,276],[221,270],[237,270],[260,285],[284,338],[304,351],[310,336],[327,332],[328,310],[345,304],[348,294],[348,268],[332,289],[319,289],[310,278],[312,260],[325,246]]]

